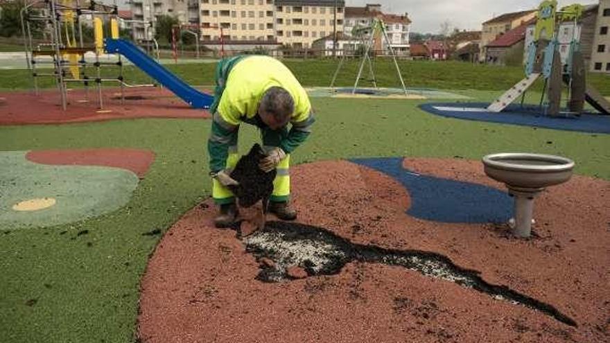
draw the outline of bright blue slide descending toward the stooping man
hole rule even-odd
[[[124,39],[105,39],[106,51],[108,53],[120,53],[130,60],[136,67],[142,69],[151,78],[157,80],[186,103],[194,108],[209,108],[214,101],[214,96],[204,94],[182,81],[171,71],[146,55],[132,42]]]

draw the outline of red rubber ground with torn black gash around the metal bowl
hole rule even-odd
[[[417,192],[362,163],[291,170],[298,223],[241,237],[210,202],[186,213],[141,281],[139,342],[610,342],[609,182],[548,188],[521,240],[410,216]],[[505,191],[479,161],[398,163]]]

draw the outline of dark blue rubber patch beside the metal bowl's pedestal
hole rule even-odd
[[[512,198],[496,188],[421,175],[403,168],[402,157],[351,159],[388,175],[408,191],[409,216],[435,222],[502,223],[512,213]]]

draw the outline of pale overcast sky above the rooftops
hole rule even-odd
[[[413,21],[411,30],[420,33],[437,33],[443,21],[460,29],[480,30],[483,21],[506,12],[537,8],[540,0],[346,0],[345,6],[364,6],[381,3],[383,12],[409,13]],[[583,5],[597,0],[559,0],[559,6],[572,3]]]

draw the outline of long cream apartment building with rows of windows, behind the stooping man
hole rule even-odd
[[[306,48],[335,27],[343,30],[344,5],[335,0],[201,0],[201,37],[203,44],[222,37],[228,44],[272,41]]]

